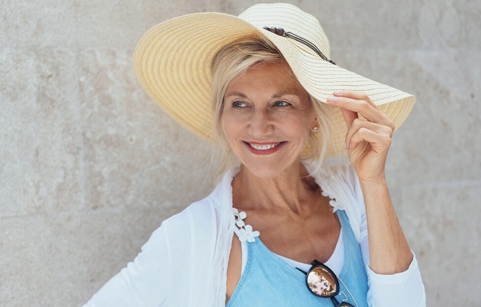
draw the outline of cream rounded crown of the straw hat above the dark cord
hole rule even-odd
[[[285,31],[310,41],[328,59],[331,58],[329,40],[322,30],[319,20],[295,5],[289,3],[255,4],[238,17],[259,29],[266,26],[283,28]]]

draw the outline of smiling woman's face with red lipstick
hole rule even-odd
[[[222,114],[227,142],[256,176],[298,168],[294,162],[316,123],[307,92],[284,63],[261,63],[227,86]]]

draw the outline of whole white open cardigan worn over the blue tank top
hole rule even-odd
[[[309,172],[314,167],[305,166]],[[235,227],[231,182],[236,173],[229,170],[209,196],[164,220],[134,261],[84,307],[225,307]],[[379,275],[369,268],[365,208],[353,167],[321,168],[314,179],[323,195],[333,199],[333,211],[345,210],[361,244],[368,276],[368,306],[425,307],[416,257],[407,271],[394,275]]]

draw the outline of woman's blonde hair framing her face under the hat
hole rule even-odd
[[[212,107],[213,107],[213,136],[216,141],[217,152],[212,155],[211,168],[218,167],[215,182],[224,176],[225,172],[239,164],[239,160],[232,153],[227,143],[222,127],[222,113],[224,110],[224,94],[229,83],[240,76],[247,69],[263,62],[285,63],[296,78],[289,64],[272,42],[264,37],[247,37],[234,41],[224,47],[212,62]],[[309,104],[316,114],[319,123],[316,132],[310,131],[306,147],[311,154],[302,156],[303,159],[317,159],[318,163],[313,173],[319,170],[326,155],[331,140],[332,116],[325,103],[312,97]],[[220,163],[220,165],[219,165]],[[311,174],[312,175],[312,174]]]

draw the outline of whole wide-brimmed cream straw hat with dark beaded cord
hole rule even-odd
[[[168,115],[213,143],[212,60],[229,43],[250,36],[268,38],[304,89],[322,102],[336,90],[364,92],[396,127],[404,122],[414,105],[413,95],[332,63],[329,41],[319,21],[286,3],[256,4],[239,17],[195,13],[158,24],[144,34],[135,48],[135,74]],[[345,153],[341,149],[347,128],[339,108],[331,107],[331,113],[335,131],[328,155],[335,156]],[[310,150],[308,144],[303,154],[309,154]]]

